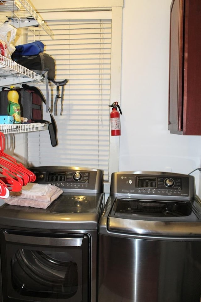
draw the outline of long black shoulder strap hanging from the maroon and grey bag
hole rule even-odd
[[[22,87],[24,89],[28,89],[28,90],[34,91],[37,95],[40,96],[40,98],[43,101],[43,103],[47,106],[46,100],[45,100],[44,96],[42,95],[41,91],[37,87],[35,87],[35,86],[29,86],[27,84],[22,84]],[[50,111],[49,106],[48,106],[48,111],[49,111],[49,114],[50,114],[51,123],[48,120],[35,120],[35,122],[48,123],[49,124],[48,130],[49,130],[49,134],[50,134],[51,144],[52,144],[52,147],[55,147],[55,146],[58,145],[58,142],[57,142],[57,126],[56,126],[54,117],[53,117],[53,115],[52,115],[52,113]]]

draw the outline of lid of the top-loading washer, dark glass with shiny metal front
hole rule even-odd
[[[107,227],[141,235],[200,235],[201,216],[196,207],[190,201],[116,199]]]

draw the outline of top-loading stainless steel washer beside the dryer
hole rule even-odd
[[[201,203],[193,176],[111,177],[99,223],[98,302],[200,302]]]

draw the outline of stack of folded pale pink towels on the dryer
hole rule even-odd
[[[57,197],[63,193],[62,189],[52,186],[51,184],[37,184],[38,186],[28,186],[28,188],[26,188],[27,185],[23,186],[22,190],[19,192],[10,192],[10,196],[4,199],[4,201],[7,204],[12,205],[46,209],[52,201],[57,199]],[[40,195],[41,192],[43,193],[42,195]]]

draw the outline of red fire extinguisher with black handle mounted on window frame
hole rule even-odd
[[[112,107],[110,113],[110,125],[111,125],[111,136],[121,135],[121,124],[120,124],[120,114],[122,114],[121,108],[118,102],[114,102],[109,107]],[[117,111],[119,109],[119,112]]]

